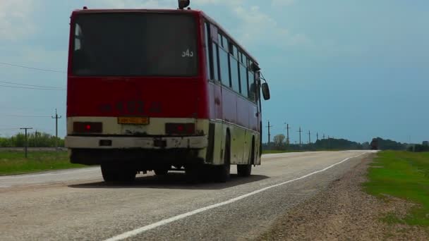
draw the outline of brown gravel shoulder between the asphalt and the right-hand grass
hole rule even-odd
[[[428,229],[380,221],[388,214],[404,216],[414,204],[362,191],[373,155],[279,218],[258,240],[429,240]]]

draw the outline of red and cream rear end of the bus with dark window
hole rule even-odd
[[[207,82],[200,12],[79,10],[71,15],[67,137],[71,162],[104,180],[203,163]]]

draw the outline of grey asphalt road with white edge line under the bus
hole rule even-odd
[[[267,154],[252,176],[228,183],[149,173],[109,185],[99,168],[2,176],[0,240],[252,240],[365,156]]]

